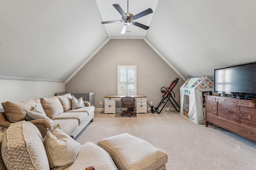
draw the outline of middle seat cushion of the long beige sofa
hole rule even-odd
[[[87,112],[65,112],[61,113],[59,115],[56,115],[55,117],[52,117],[52,119],[77,119],[79,125],[86,121],[88,118],[88,113]]]

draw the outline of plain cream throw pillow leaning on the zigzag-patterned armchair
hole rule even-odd
[[[60,125],[51,132],[47,128],[44,146],[50,168],[56,170],[65,168],[76,160],[80,151],[80,143],[60,130]]]

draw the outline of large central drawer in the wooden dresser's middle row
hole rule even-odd
[[[218,103],[218,117],[239,123],[239,106]]]

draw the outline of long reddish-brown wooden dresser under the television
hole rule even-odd
[[[223,96],[206,96],[208,122],[256,142],[256,101]]]

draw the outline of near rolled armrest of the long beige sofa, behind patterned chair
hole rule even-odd
[[[34,119],[30,120],[30,123],[33,123],[40,131],[42,138],[46,136],[46,128],[53,131],[53,124],[51,119]]]

